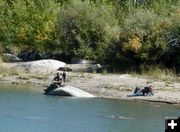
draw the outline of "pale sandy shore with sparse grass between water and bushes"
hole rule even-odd
[[[53,74],[46,77],[19,77],[0,75],[0,81],[16,85],[27,84],[35,85],[37,88],[45,88],[53,79]],[[180,82],[163,81],[156,79],[143,78],[141,76],[132,76],[128,74],[93,74],[93,73],[67,73],[65,85],[71,85],[80,88],[86,92],[94,94],[97,97],[116,98],[125,100],[139,100],[163,102],[170,104],[180,104]],[[136,86],[153,85],[154,96],[127,97]]]

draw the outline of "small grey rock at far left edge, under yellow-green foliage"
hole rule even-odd
[[[22,61],[22,59],[20,59],[20,58],[17,57],[16,55],[14,55],[14,54],[8,54],[8,53],[3,54],[2,59],[3,59],[3,61],[5,61],[5,62],[18,62],[18,61]]]

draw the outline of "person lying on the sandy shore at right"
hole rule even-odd
[[[131,96],[151,96],[151,95],[154,95],[154,90],[152,85],[146,86],[143,89],[136,87],[134,93],[127,96],[131,97]]]

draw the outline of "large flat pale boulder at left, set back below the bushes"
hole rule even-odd
[[[56,71],[59,67],[64,67],[65,65],[66,63],[61,61],[45,59],[31,62],[19,62],[14,65],[14,68],[27,72],[47,73]]]

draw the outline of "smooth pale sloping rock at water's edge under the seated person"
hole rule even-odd
[[[94,95],[87,93],[79,88],[72,86],[59,87],[51,90],[47,93],[48,95],[59,95],[59,96],[72,96],[72,97],[95,97]]]

